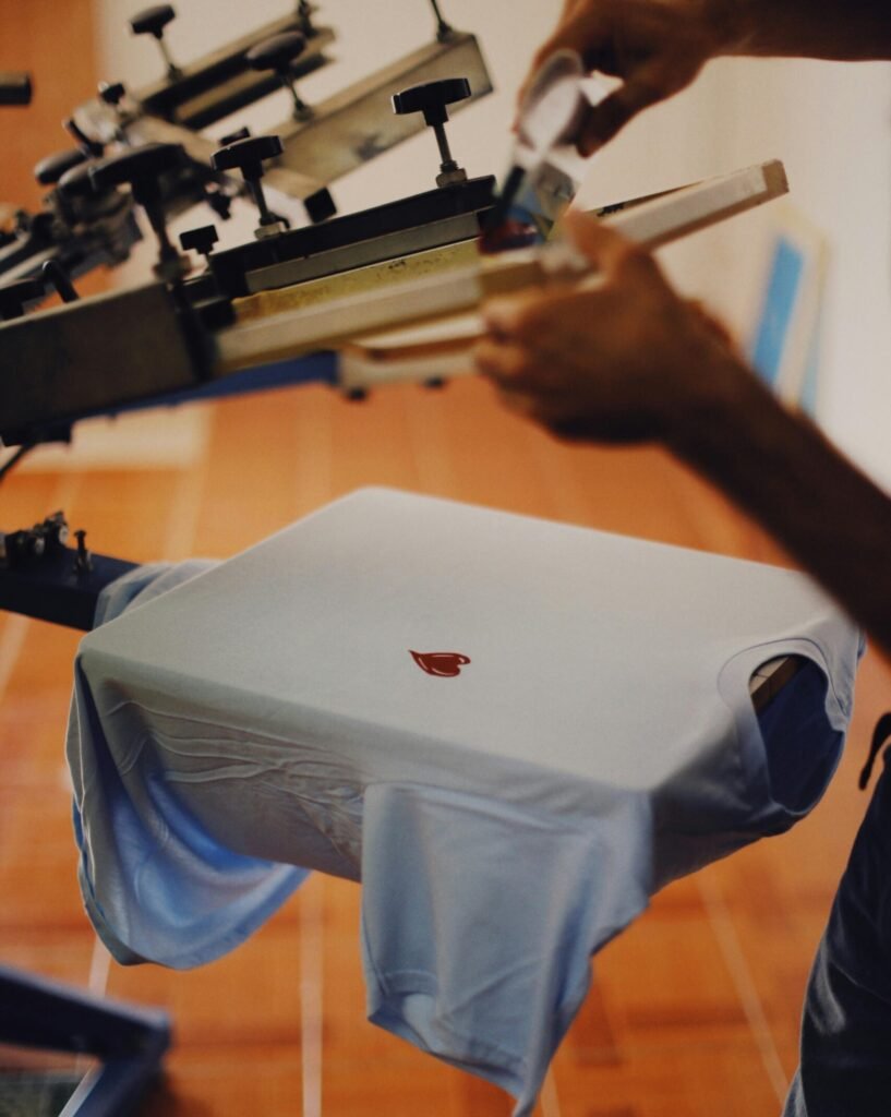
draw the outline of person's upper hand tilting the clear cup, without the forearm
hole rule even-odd
[[[571,49],[585,67],[622,84],[587,114],[577,140],[590,155],[642,108],[688,86],[725,47],[722,0],[566,0],[557,29],[537,51],[519,99],[554,51]]]

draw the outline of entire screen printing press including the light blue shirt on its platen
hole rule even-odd
[[[559,237],[577,185],[566,136],[527,163],[509,211],[494,175],[469,178],[454,157],[449,112],[492,83],[475,36],[432,9],[430,42],[317,104],[298,84],[328,64],[336,34],[305,0],[182,66],[164,38],[170,6],[133,18],[164,76],[138,92],[103,83],[67,121],[76,146],[35,168],[41,210],[0,210],[0,480],[95,416],[313,381],[357,401],[386,381],[441,383],[464,371],[485,297],[588,278]],[[2,103],[27,104],[27,75],[0,78]],[[291,113],[275,134],[207,137],[280,88]],[[425,126],[431,189],[338,214],[332,184]],[[597,213],[658,248],[786,189],[768,162]],[[276,212],[281,195],[303,202],[300,227]],[[204,206],[222,221],[236,197],[256,207],[252,239],[215,249],[215,226],[197,225],[174,246],[171,218]],[[509,235],[482,252],[496,218]],[[146,229],[151,278],[78,297],[78,277],[126,259]],[[51,294],[61,305],[44,306]],[[69,534],[60,512],[6,532],[0,608],[95,629],[76,667],[69,758],[82,886],[112,952],[199,964],[307,869],[362,879],[370,1016],[501,1085],[518,1113],[584,996],[591,953],[667,880],[805,813],[850,714],[856,633],[806,580],[754,564],[381,490],[219,565],[141,567]],[[386,573],[396,536],[413,542]],[[557,589],[542,576],[555,554],[567,571]],[[214,631],[230,594],[257,636],[238,661]],[[622,600],[627,612],[604,611]],[[520,601],[535,645],[516,628]],[[649,648],[663,678],[643,720],[617,700],[632,663],[604,655],[604,624],[613,647]],[[679,631],[701,652],[690,677],[673,674]],[[805,719],[822,728],[789,783]],[[199,722],[207,739],[189,728]],[[689,789],[708,793],[693,802]],[[260,801],[271,825],[253,824]],[[473,832],[492,863],[523,836],[547,887],[530,895],[519,871],[494,882],[485,865],[468,876],[454,836]],[[125,847],[138,866],[118,859]],[[188,946],[165,923],[172,899],[189,911]],[[516,970],[494,980],[502,935]],[[533,939],[544,946],[530,964]],[[0,983],[0,1040],[104,1060],[66,1117],[124,1111],[157,1069],[162,1014],[11,972]]]

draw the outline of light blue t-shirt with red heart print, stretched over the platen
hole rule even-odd
[[[198,965],[307,869],[362,880],[370,1018],[517,1115],[591,954],[822,794],[861,651],[801,574],[386,489],[151,573],[76,663],[82,884],[112,953]],[[825,680],[817,729],[768,750],[748,681],[789,655]]]

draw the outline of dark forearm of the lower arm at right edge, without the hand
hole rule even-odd
[[[732,370],[671,449],[761,523],[891,652],[891,498],[750,373]]]

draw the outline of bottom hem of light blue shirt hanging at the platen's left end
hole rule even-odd
[[[108,623],[215,565],[193,560],[137,567],[106,588],[98,621]],[[121,751],[115,756],[109,747],[107,713],[107,701],[99,712],[76,661],[67,755],[84,905],[122,965],[200,965],[242,943],[307,872],[245,857],[215,840],[169,785],[151,747],[151,725],[121,742],[130,756],[122,763]]]

